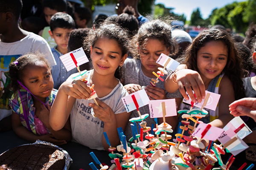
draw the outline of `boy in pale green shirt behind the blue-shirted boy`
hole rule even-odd
[[[50,25],[50,20],[52,15],[54,15],[57,12],[65,13],[67,11],[67,1],[66,0],[43,0],[42,8],[44,11],[45,20]],[[49,35],[49,29],[50,29],[49,26],[44,27],[44,29],[41,30],[38,34],[48,42],[48,44],[50,45],[50,48],[53,48],[56,46],[56,43],[52,39],[52,37]]]

